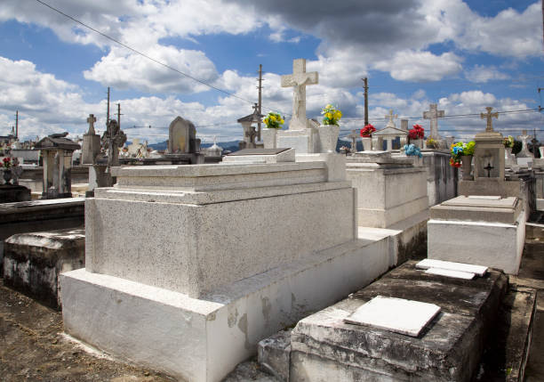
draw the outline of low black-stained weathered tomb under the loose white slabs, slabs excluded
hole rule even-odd
[[[468,382],[477,370],[507,285],[502,272],[457,280],[421,272],[414,262],[404,264],[299,321],[291,335],[290,380]],[[419,337],[344,321],[379,295],[435,304],[442,313]]]

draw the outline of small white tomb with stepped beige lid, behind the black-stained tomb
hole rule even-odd
[[[525,239],[518,198],[464,197],[431,208],[428,258],[498,268],[517,274]]]

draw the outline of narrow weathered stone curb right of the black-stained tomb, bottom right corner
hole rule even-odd
[[[535,317],[536,290],[511,288],[496,315],[492,340],[484,351],[475,382],[524,381]]]

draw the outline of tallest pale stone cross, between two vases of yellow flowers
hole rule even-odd
[[[292,118],[289,130],[308,127],[306,118],[306,85],[316,85],[319,77],[316,71],[306,72],[306,60],[292,61],[292,74],[282,76],[282,87],[292,87]]]

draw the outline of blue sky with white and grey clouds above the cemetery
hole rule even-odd
[[[236,119],[257,102],[259,65],[263,114],[287,126],[292,88],[281,76],[304,58],[319,73],[307,116],[337,106],[340,137],[364,126],[368,77],[378,129],[393,110],[396,126],[408,118],[428,133],[422,114],[437,103],[440,134],[467,140],[491,106],[501,133],[536,129],[544,141],[542,36],[542,4],[531,0],[2,0],[0,135],[16,110],[21,140],[81,136],[91,113],[101,134],[109,86],[129,141],[165,141],[176,116],[203,142],[242,140]]]

